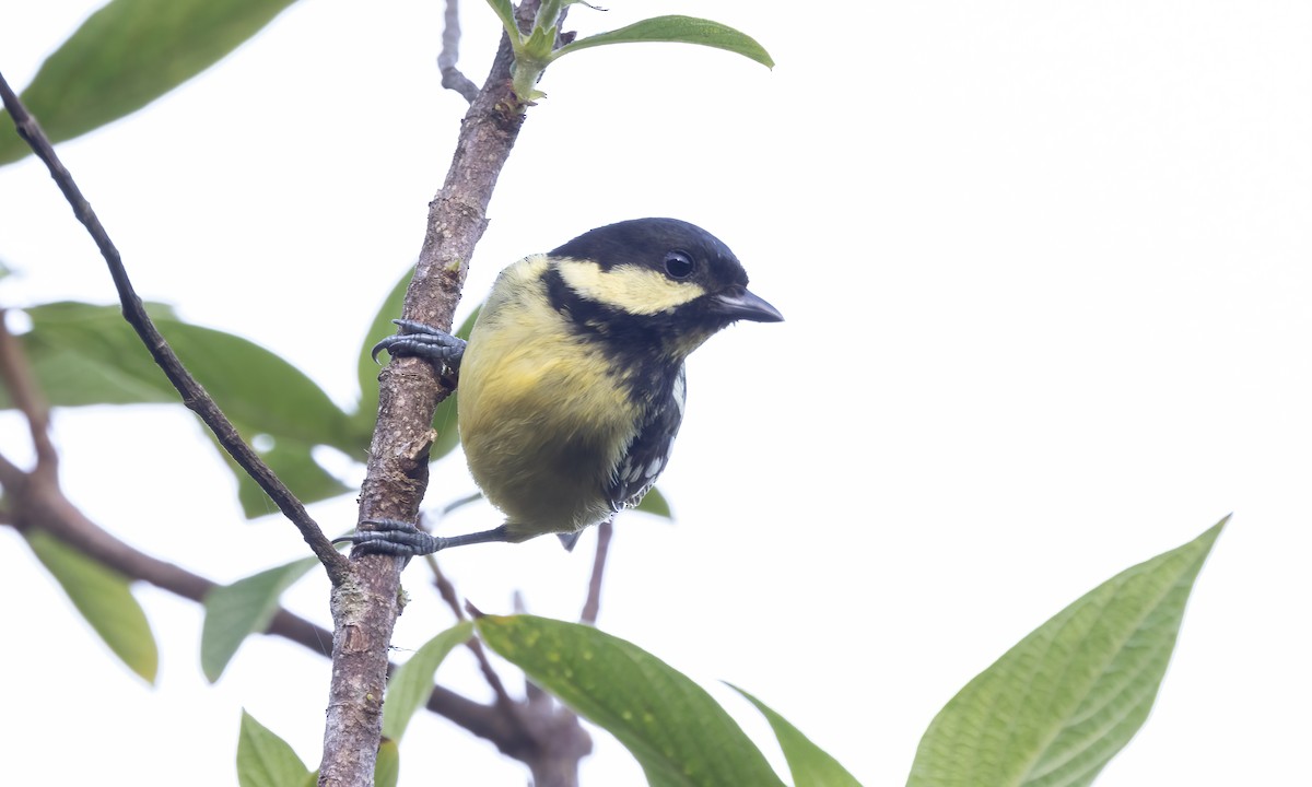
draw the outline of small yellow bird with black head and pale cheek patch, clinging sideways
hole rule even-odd
[[[457,378],[470,474],[505,515],[454,536],[377,518],[342,540],[404,557],[556,534],[572,550],[590,526],[638,505],[669,462],[684,420],[685,361],[739,321],[783,315],[747,289],[733,252],[695,224],[618,222],[530,254],[497,277],[468,342],[413,320],[374,346]]]

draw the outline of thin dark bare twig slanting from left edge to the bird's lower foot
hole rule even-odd
[[[328,578],[332,580],[333,585],[340,585],[349,572],[346,559],[333,548],[332,543],[324,536],[323,530],[310,518],[310,513],[306,512],[304,505],[297,500],[295,494],[269,470],[269,466],[260,459],[258,454],[241,439],[236,426],[228,421],[227,416],[214,404],[214,400],[210,399],[205,388],[182,366],[177,354],[173,353],[173,348],[164,341],[164,337],[155,328],[155,323],[146,313],[142,299],[133,289],[133,283],[127,278],[127,270],[123,268],[123,260],[113,241],[110,241],[105,227],[96,216],[96,211],[92,210],[91,203],[83,197],[81,189],[73,182],[72,174],[68,173],[59,156],[55,155],[55,148],[50,144],[37,119],[28,113],[28,108],[24,106],[18,96],[9,88],[9,83],[5,81],[4,75],[0,75],[0,98],[4,100],[4,106],[9,110],[18,135],[31,146],[37,157],[45,161],[46,168],[50,169],[50,176],[59,185],[59,190],[63,192],[68,205],[72,206],[73,215],[91,232],[92,239],[100,248],[101,256],[109,265],[110,277],[114,279],[118,299],[123,307],[123,317],[136,329],[151,357],[155,358],[155,362],[164,370],[169,382],[182,395],[182,404],[205,421],[205,425],[214,433],[219,445],[260,484],[260,488],[273,498],[278,509],[300,530],[300,536],[306,539],[306,543],[310,544],[319,561],[324,564]]]

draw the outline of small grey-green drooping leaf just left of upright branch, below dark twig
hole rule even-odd
[[[269,626],[282,592],[318,564],[316,557],[303,557],[214,588],[205,595],[201,669],[211,683],[223,674],[245,637]]]

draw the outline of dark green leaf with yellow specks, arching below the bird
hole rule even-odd
[[[781,786],[760,749],[701,686],[589,626],[484,616],[479,635],[638,758],[652,787]]]

